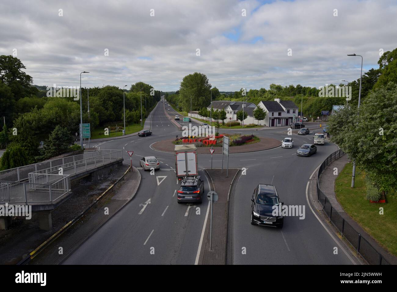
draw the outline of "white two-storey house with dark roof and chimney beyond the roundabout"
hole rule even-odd
[[[293,115],[298,115],[298,107],[291,100],[280,100],[279,98],[275,98],[274,101],[262,100],[258,106],[266,112],[266,118],[259,121],[259,125],[289,126],[293,121]]]

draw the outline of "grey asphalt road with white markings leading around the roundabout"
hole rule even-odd
[[[177,114],[172,108],[168,113]],[[182,121],[179,121],[183,124]],[[194,125],[194,123],[193,123]],[[310,127],[310,126],[309,126]],[[258,136],[282,140],[287,129],[253,131]],[[200,215],[194,206],[177,204],[173,154],[150,148],[158,140],[181,135],[169,121],[160,102],[152,117],[152,136],[122,138],[98,143],[102,149],[133,150],[133,165],[139,167],[141,156],[154,155],[161,169],[155,175],[144,172],[135,198],[112,217],[91,238],[81,245],[64,264],[194,264],[207,214],[208,202],[203,200]],[[222,132],[229,130],[222,129]],[[230,132],[242,132],[231,130]],[[314,131],[315,132],[315,131]],[[245,132],[244,132],[245,133]],[[248,132],[250,133],[250,131]],[[314,216],[306,199],[310,175],[337,146],[318,145],[311,157],[296,156],[297,148],[312,143],[308,136],[293,134],[293,149],[275,148],[260,152],[231,154],[229,167],[247,168],[241,175],[231,206],[231,254],[233,264],[352,264],[357,261],[345,253]],[[127,152],[125,162],[129,161]],[[198,155],[199,169],[210,167],[211,156]],[[222,154],[214,154],[213,166],[221,167]],[[209,184],[203,171],[201,177]],[[166,176],[159,185],[156,176]],[[161,181],[162,178],[159,178]],[[286,217],[283,229],[250,224],[251,195],[259,183],[274,184],[286,205],[305,206],[305,218]],[[150,199],[150,204],[145,202]],[[335,236],[334,236],[335,237]],[[338,254],[334,254],[338,247]],[[150,252],[153,251],[154,254]],[[246,250],[246,254],[243,254]]]

